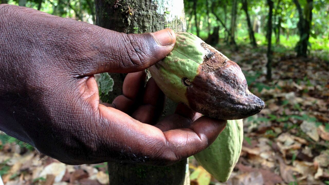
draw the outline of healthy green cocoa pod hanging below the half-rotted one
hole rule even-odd
[[[219,182],[226,182],[239,160],[242,141],[242,119],[228,120],[215,142],[194,157]]]

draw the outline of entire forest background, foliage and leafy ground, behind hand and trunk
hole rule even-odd
[[[93,0],[0,3],[95,24]],[[249,90],[266,102],[261,113],[244,119],[240,159],[225,184],[329,184],[329,1],[184,0],[184,4],[187,32],[237,62]],[[193,157],[189,161],[191,184],[220,184]],[[46,168],[58,184],[108,183],[106,163],[60,164],[0,135],[0,175],[5,183],[45,184],[53,178],[45,175]]]

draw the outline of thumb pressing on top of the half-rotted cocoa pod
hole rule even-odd
[[[174,48],[175,33],[164,29],[154,33],[124,34],[106,30],[98,42],[97,53],[86,56],[84,75],[102,72],[131,73],[146,69],[162,60]],[[88,53],[88,52],[87,52]],[[91,59],[91,61],[90,61]],[[86,71],[86,68],[88,69]]]

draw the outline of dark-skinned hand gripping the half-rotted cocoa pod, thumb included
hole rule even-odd
[[[127,35],[0,5],[0,130],[66,164],[162,166],[205,149],[226,121],[179,105],[154,122],[164,95],[152,78],[143,86],[175,41],[170,29]],[[112,104],[99,103],[102,72],[130,73]]]

